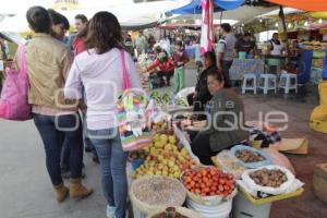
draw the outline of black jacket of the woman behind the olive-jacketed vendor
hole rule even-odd
[[[208,74],[216,70],[216,66],[209,66],[205,69],[197,78],[195,92],[197,96],[194,98],[194,111],[204,111],[204,106],[211,99],[211,94],[208,90]],[[198,101],[198,102],[196,102]]]

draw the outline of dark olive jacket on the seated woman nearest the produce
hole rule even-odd
[[[234,116],[226,114],[232,112]],[[225,113],[225,114],[223,114]],[[204,131],[208,134],[213,152],[220,152],[231,145],[249,140],[249,132],[241,129],[244,126],[244,106],[242,99],[230,88],[222,88],[210,100],[210,128]],[[237,123],[237,125],[228,124]],[[220,129],[232,130],[220,130]]]

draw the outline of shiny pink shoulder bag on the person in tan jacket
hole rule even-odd
[[[0,98],[0,118],[25,121],[32,118],[32,107],[28,105],[28,78],[25,59],[25,46],[20,46],[20,70],[10,69],[3,83]]]

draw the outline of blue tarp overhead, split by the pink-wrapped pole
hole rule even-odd
[[[244,0],[214,0],[214,11],[233,10],[241,7]],[[173,14],[199,14],[202,13],[201,0],[192,0],[191,3],[174,9]]]

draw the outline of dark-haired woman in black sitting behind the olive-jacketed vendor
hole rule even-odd
[[[208,89],[207,77],[210,72],[217,71],[216,55],[214,51],[207,51],[203,55],[203,65],[205,70],[199,72],[197,76],[195,93],[187,96],[189,102],[191,101],[191,105],[193,105],[193,111],[197,120],[206,119],[204,114],[196,114],[196,112],[204,112],[205,105],[213,97]],[[190,100],[190,97],[193,99]]]

